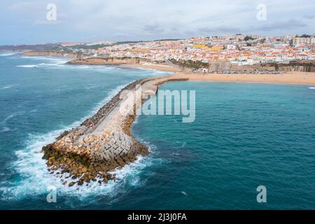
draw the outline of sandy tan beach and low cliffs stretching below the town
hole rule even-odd
[[[87,65],[116,65],[138,69],[155,69],[158,71],[172,71],[179,78],[188,78],[198,81],[218,81],[218,82],[245,82],[245,83],[275,83],[275,84],[297,84],[297,85],[315,85],[314,72],[288,71],[279,74],[223,74],[223,73],[193,73],[189,69],[181,69],[177,66],[164,64],[152,64],[148,59],[141,58],[103,58],[90,57],[84,59],[75,59],[73,55],[55,55],[55,52],[49,51],[31,51],[23,52],[23,55],[31,56],[55,56],[68,57],[72,60],[66,64],[87,64]],[[70,56],[70,57],[69,57]]]

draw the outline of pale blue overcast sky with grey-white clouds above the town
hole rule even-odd
[[[48,3],[57,20],[46,19]],[[267,20],[258,20],[258,4]],[[0,44],[315,33],[314,0],[1,0]]]

